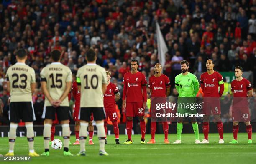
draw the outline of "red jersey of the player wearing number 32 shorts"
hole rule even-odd
[[[123,82],[127,88],[126,93],[123,93],[123,99],[126,96],[126,102],[144,102],[142,86],[147,84],[147,80],[143,73],[127,72],[123,77]]]

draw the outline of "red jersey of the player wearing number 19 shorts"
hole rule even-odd
[[[117,94],[118,92],[118,87],[110,82],[107,86],[105,94],[103,94],[105,108],[115,108],[115,94]]]

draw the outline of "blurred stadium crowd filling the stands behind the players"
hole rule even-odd
[[[174,86],[181,60],[189,72],[206,71],[212,58],[217,71],[256,72],[256,0],[2,0],[0,4],[0,98],[8,123],[5,73],[15,64],[15,51],[25,48],[27,64],[36,72],[33,103],[37,118],[44,106],[39,73],[51,62],[50,52],[61,50],[61,63],[74,75],[86,64],[90,47],[97,64],[111,72],[111,82],[122,94],[131,59],[147,78],[154,74],[157,57],[156,22],[168,52],[164,74]],[[256,75],[254,74],[254,82]],[[255,84],[254,84],[255,87]],[[172,96],[177,96],[173,89]],[[121,110],[121,102],[118,106]]]

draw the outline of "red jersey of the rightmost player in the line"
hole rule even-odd
[[[241,81],[233,80],[231,82],[231,90],[234,94],[233,107],[246,107],[247,92],[252,89],[251,83],[246,78]]]

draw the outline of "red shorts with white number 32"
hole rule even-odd
[[[144,116],[143,102],[127,102],[126,117]]]

